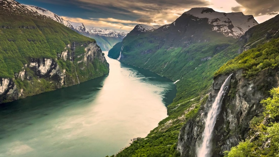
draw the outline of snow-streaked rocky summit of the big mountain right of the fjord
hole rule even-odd
[[[133,32],[148,32],[156,29],[170,29],[169,27],[179,28],[179,25],[187,23],[187,20],[197,21],[197,25],[205,23],[208,24],[211,30],[215,32],[221,32],[227,37],[239,38],[249,28],[258,24],[252,15],[244,15],[242,12],[237,13],[220,13],[214,11],[211,8],[192,8],[191,10],[183,13],[173,23],[167,25],[136,25]],[[202,20],[205,20],[204,23]],[[188,26],[184,26],[183,29],[177,29],[176,31],[182,32],[187,30]],[[191,27],[191,26],[190,26]]]

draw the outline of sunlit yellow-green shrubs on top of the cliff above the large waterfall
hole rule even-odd
[[[249,49],[234,59],[224,64],[216,73],[228,74],[238,69],[243,69],[244,76],[250,78],[265,68],[276,68],[279,66],[279,38]]]

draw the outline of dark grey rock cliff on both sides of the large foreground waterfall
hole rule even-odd
[[[250,79],[242,76],[242,70],[233,74],[230,91],[224,98],[215,124],[212,156],[223,156],[224,151],[248,136],[249,122],[263,112],[259,102],[269,96],[268,90],[279,86],[278,76],[279,69],[265,69]],[[198,115],[182,127],[177,148],[182,157],[196,155],[204,130],[204,119],[226,78],[222,75],[214,79],[207,102],[201,106]]]

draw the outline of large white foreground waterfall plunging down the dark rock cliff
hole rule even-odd
[[[206,121],[205,121],[205,130],[203,132],[202,141],[203,143],[197,149],[197,157],[210,157],[211,153],[211,139],[213,135],[214,125],[216,123],[217,116],[220,112],[220,105],[227,91],[227,88],[230,83],[230,78],[232,74],[225,80],[220,91],[218,92],[217,97],[215,98],[214,103],[212,104],[211,109],[208,112]]]

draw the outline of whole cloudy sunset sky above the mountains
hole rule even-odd
[[[137,24],[165,25],[195,7],[243,12],[262,23],[279,13],[279,0],[16,0],[48,9],[86,28],[130,31]]]

